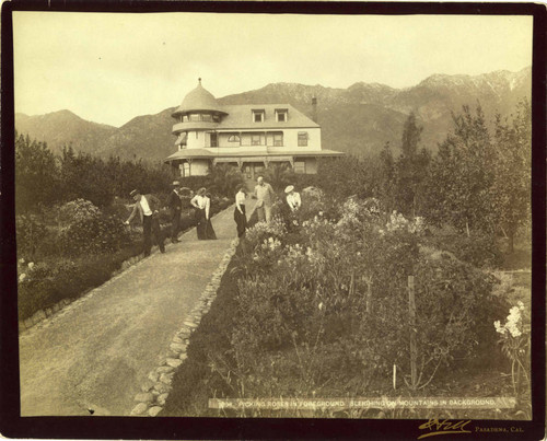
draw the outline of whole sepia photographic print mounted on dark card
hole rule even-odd
[[[524,431],[532,14],[12,27],[21,417]]]

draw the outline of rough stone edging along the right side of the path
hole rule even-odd
[[[199,301],[186,316],[183,327],[175,333],[164,360],[148,374],[144,384],[141,385],[141,392],[135,396],[135,401],[138,404],[132,408],[131,416],[155,417],[163,409],[163,406],[165,406],[165,401],[171,392],[173,375],[187,358],[186,348],[189,336],[198,327],[201,317],[209,312],[217,297],[217,290],[220,287],[222,276],[232,256],[235,254],[237,244],[237,239],[231,242],[219,267],[214,270],[211,280],[199,297]]]

